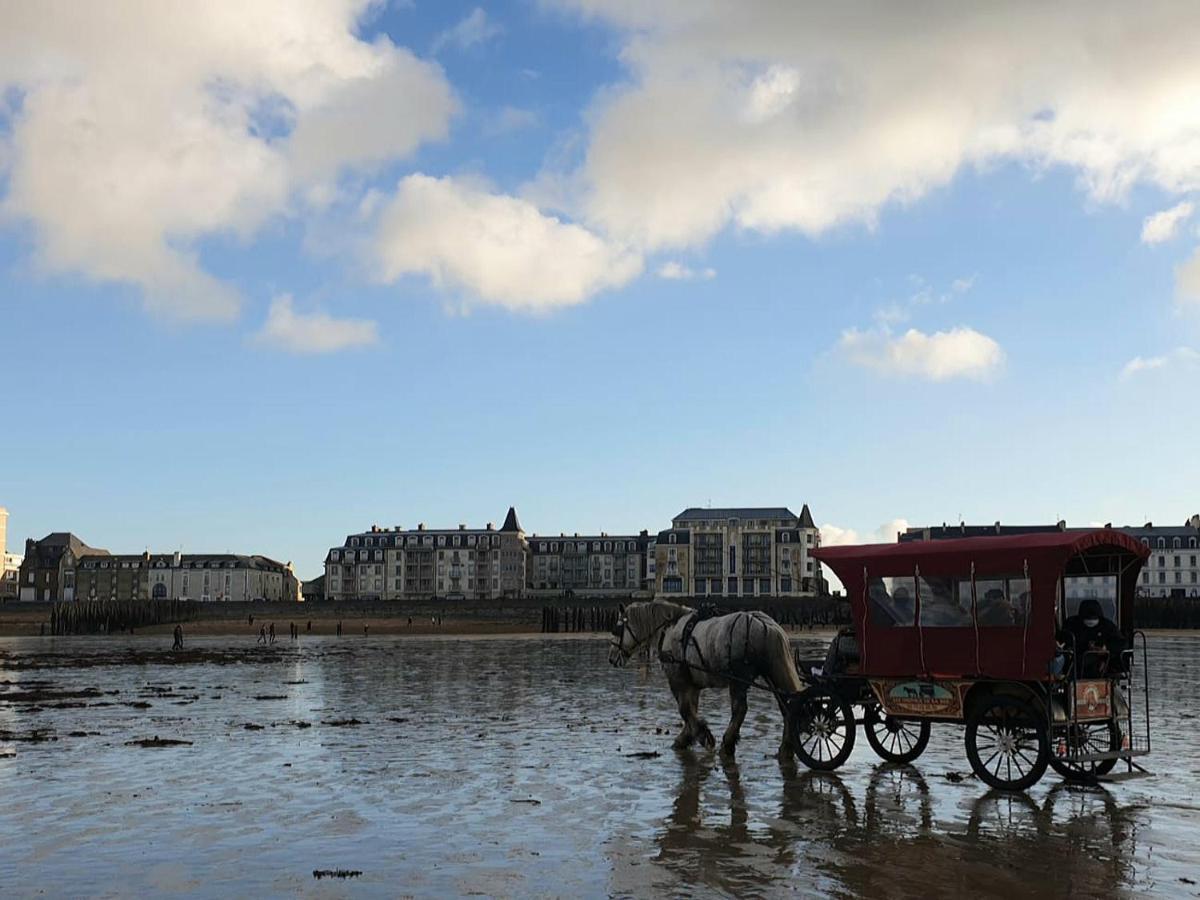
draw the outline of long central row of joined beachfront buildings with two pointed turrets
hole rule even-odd
[[[325,557],[330,600],[516,596],[781,596],[822,593],[808,506],[689,509],[658,535],[526,534],[509,508],[497,530],[372,527]]]

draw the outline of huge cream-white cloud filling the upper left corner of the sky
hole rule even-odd
[[[199,242],[247,239],[347,167],[446,132],[442,71],[386,37],[368,4],[0,6],[0,215],[32,226],[49,271],[133,284],[148,307],[230,318],[239,296]]]

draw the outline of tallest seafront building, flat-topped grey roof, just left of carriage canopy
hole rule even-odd
[[[800,598],[824,593],[811,552],[821,534],[808,504],[685,509],[655,539],[661,596]]]

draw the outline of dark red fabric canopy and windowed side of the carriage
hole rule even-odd
[[[1150,550],[1098,528],[821,547],[814,556],[846,587],[863,674],[1042,679],[1056,653],[1061,580],[1111,578],[1128,635]]]

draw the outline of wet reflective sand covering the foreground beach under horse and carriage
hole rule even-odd
[[[5,896],[1200,896],[1194,636],[1152,638],[1156,778],[1004,797],[953,726],[780,767],[766,695],[736,763],[676,754],[587,636],[286,635],[0,640]]]

